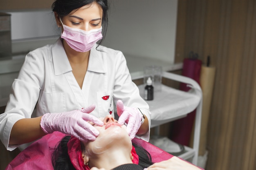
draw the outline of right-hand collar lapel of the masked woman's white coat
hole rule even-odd
[[[105,65],[103,62],[103,55],[101,51],[96,50],[97,44],[94,44],[90,51],[89,63],[87,71],[93,71],[97,73],[106,73]]]

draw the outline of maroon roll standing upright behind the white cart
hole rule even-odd
[[[183,62],[183,70],[182,75],[194,79],[196,82],[199,83],[200,81],[200,72],[201,72],[202,61],[197,59],[184,59]],[[187,86],[185,83],[180,84],[180,90],[182,91],[189,91],[190,87]],[[191,132],[195,120],[195,112],[193,110],[189,113],[186,117],[182,119],[178,119],[172,122],[171,126],[171,140],[189,146],[189,141],[191,137]]]

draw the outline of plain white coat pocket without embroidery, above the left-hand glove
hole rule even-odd
[[[65,93],[43,92],[43,113],[66,112]]]

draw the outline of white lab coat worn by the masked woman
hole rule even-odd
[[[97,51],[96,46],[90,51],[82,89],[72,74],[61,39],[27,54],[12,84],[5,113],[0,115],[0,139],[8,150],[18,147],[9,145],[9,137],[13,124],[19,119],[81,109],[91,104],[96,105],[92,115],[114,116],[114,102],[118,99],[124,106],[140,108],[148,117],[150,127],[148,104],[131,80],[123,53],[104,46],[99,46],[101,51]],[[32,115],[35,106],[35,115]],[[149,133],[140,137],[148,141]]]

